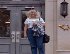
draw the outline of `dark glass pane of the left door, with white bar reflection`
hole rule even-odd
[[[0,9],[0,37],[10,37],[10,11]]]

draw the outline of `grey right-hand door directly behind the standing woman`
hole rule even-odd
[[[29,8],[30,9],[30,8]],[[36,10],[41,12],[41,7],[35,7]],[[44,9],[44,8],[43,8]],[[26,20],[26,12],[28,9],[24,7],[17,7],[16,18],[16,54],[31,54],[31,47],[28,38],[24,38],[24,21]],[[43,12],[42,12],[43,13]]]

